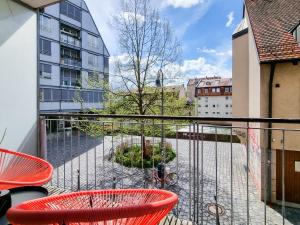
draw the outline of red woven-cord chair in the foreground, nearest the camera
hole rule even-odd
[[[14,225],[154,225],[177,202],[176,194],[157,189],[86,191],[24,202],[7,218]]]

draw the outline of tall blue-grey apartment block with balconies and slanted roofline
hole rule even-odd
[[[109,52],[85,1],[40,9],[39,25],[40,110],[102,108],[102,85],[95,84],[108,82]]]

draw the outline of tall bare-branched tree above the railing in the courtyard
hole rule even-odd
[[[166,71],[180,56],[181,47],[168,20],[160,17],[149,0],[124,0],[122,14],[115,18],[120,51],[115,76],[122,91],[114,92],[131,103],[133,113],[145,115],[159,99],[153,86],[157,72]]]

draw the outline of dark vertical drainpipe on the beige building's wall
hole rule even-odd
[[[275,69],[276,63],[271,64],[271,71],[270,71],[270,80],[269,80],[269,118],[273,117],[273,83],[274,83],[274,76],[275,76]],[[272,128],[272,123],[268,123],[268,128]],[[271,202],[271,195],[272,195],[272,171],[271,171],[271,163],[272,163],[272,130],[268,131],[268,161],[267,161],[267,169],[268,169],[268,194],[267,199]]]

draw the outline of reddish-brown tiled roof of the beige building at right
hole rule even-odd
[[[300,0],[245,0],[261,62],[298,59],[292,30],[300,22]]]

